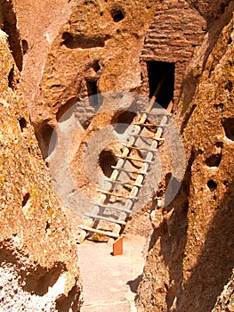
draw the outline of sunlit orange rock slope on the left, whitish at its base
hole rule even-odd
[[[0,309],[77,311],[77,248],[52,192],[9,41],[0,30]]]

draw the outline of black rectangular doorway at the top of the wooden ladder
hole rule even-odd
[[[158,84],[165,77],[163,85],[157,95],[157,103],[165,109],[173,100],[174,89],[174,63],[173,62],[147,62],[148,78],[149,78],[149,97],[151,98]]]

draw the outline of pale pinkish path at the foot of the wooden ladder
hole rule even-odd
[[[82,312],[133,312],[135,291],[144,266],[146,239],[126,234],[124,255],[111,255],[106,242],[78,245],[79,267],[84,287]]]

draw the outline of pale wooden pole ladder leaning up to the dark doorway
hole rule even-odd
[[[151,110],[156,101],[156,97],[160,87],[162,86],[162,83],[163,81],[161,81],[161,84],[157,86],[157,90],[153,95],[153,97],[151,98],[147,110],[141,113],[141,117],[138,122],[133,123],[133,132],[128,136],[127,142],[123,144],[123,146],[125,146],[124,151],[120,155],[117,155],[117,158],[119,159],[117,161],[117,165],[112,166],[114,170],[109,179],[107,179],[110,185],[109,188],[104,190],[98,190],[98,192],[101,193],[99,200],[91,201],[91,204],[93,204],[94,206],[92,213],[85,213],[85,217],[87,218],[85,225],[78,226],[82,230],[77,237],[78,243],[84,242],[85,237],[88,233],[107,235],[112,241],[114,239],[117,239],[120,235],[120,232],[124,229],[126,225],[126,219],[131,216],[131,213],[133,212],[134,202],[138,200],[141,187],[143,186],[144,178],[149,172],[150,164],[154,160],[158,144],[160,142],[164,142],[164,138],[162,138],[162,135],[164,133],[165,127],[168,125],[168,114],[172,111],[173,108],[173,103],[172,102],[169,103],[166,110],[167,112],[165,114],[162,114],[162,119],[158,125],[150,124],[147,121],[148,119],[150,119],[151,115],[158,116],[157,113],[154,113]],[[142,132],[145,127],[157,128],[155,135],[153,137],[143,135]],[[137,146],[136,142],[139,138],[149,139],[151,142],[149,148],[148,147],[141,148],[141,146],[140,147]],[[133,157],[131,153],[135,150],[140,152],[141,151],[146,152],[146,157],[144,159]],[[125,168],[125,164],[127,161],[140,161],[141,168],[129,170],[128,168]],[[118,177],[120,176],[121,172],[136,175],[134,183],[130,184],[118,180]],[[116,192],[115,190],[116,185],[125,185],[132,188],[129,194],[124,195],[122,193]],[[114,203],[110,203],[112,197],[125,199],[125,204],[117,205]],[[117,218],[107,217],[108,216],[108,212],[106,212],[107,209],[116,210],[117,214],[119,214],[118,217]],[[112,226],[113,227],[112,230],[102,231],[101,229],[98,229],[97,226],[99,225],[100,221],[105,221],[114,224],[114,226]]]

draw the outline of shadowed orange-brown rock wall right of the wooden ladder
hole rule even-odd
[[[187,169],[175,200],[152,214],[155,230],[138,297],[143,311],[211,311],[232,274],[234,45],[230,12],[233,2],[214,21],[184,78],[181,114],[175,119],[181,123]],[[188,102],[186,94],[196,86],[194,81],[197,87]],[[172,215],[158,226],[155,216],[163,219],[169,212]],[[228,290],[214,310],[232,310],[231,282]],[[221,309],[225,302],[227,307]]]

